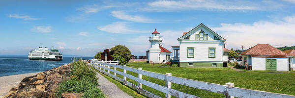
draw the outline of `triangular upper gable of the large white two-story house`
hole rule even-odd
[[[177,39],[178,41],[225,41],[224,38],[219,36],[217,33],[212,31],[204,24],[200,24],[190,30],[189,32],[184,32],[183,36]]]

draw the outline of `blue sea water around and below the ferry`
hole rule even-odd
[[[35,73],[50,70],[73,59],[93,59],[94,57],[63,57],[62,61],[29,60],[28,57],[0,56],[0,76]]]

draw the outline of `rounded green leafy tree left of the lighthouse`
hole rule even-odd
[[[124,65],[131,59],[131,51],[125,46],[116,45],[111,49],[111,54],[114,61],[119,61],[119,65]]]

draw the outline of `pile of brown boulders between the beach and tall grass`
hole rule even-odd
[[[64,77],[67,72],[70,72],[70,64],[26,77],[3,98],[55,98],[58,83],[70,78]]]

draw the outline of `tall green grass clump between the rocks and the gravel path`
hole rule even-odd
[[[73,61],[71,72],[67,73],[71,79],[59,83],[57,98],[62,98],[62,93],[82,93],[82,98],[105,98],[100,89],[97,88],[96,73],[82,61]]]

